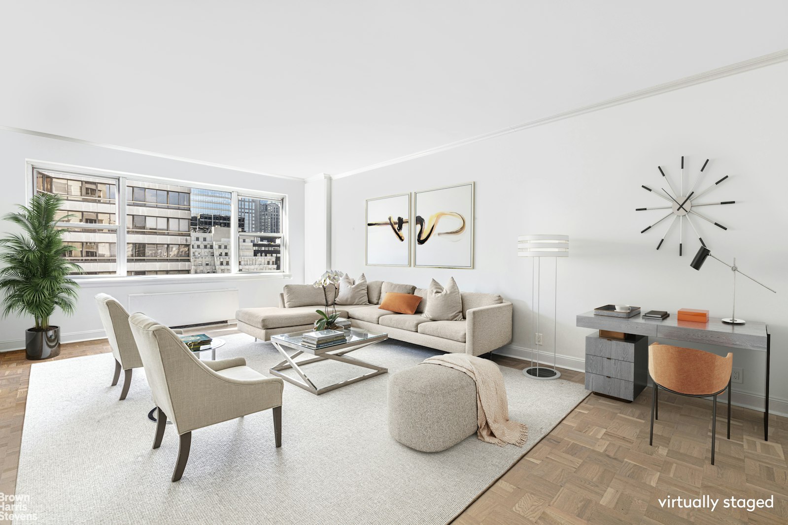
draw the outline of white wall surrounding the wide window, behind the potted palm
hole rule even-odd
[[[65,342],[104,336],[93,301],[93,296],[99,292],[113,295],[121,304],[128,305],[128,294],[238,288],[240,307],[243,308],[276,306],[278,294],[285,283],[303,283],[304,185],[299,180],[258,176],[231,169],[0,130],[0,214],[8,213],[15,205],[24,203],[25,161],[28,159],[184,179],[195,183],[267,190],[288,196],[289,270],[292,278],[247,276],[223,279],[220,276],[206,275],[188,279],[183,283],[139,283],[129,280],[118,283],[85,283],[80,290],[76,315],[64,317],[58,313],[54,316],[53,324],[61,326],[62,339]],[[3,232],[8,231],[8,228],[7,223],[0,223],[0,230]],[[26,318],[9,317],[0,320],[0,351],[24,348],[24,330],[29,326],[32,326],[32,320]]]

